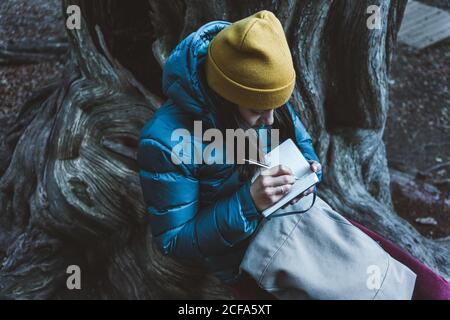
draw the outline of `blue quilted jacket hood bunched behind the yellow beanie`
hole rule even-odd
[[[181,41],[163,67],[163,93],[178,107],[211,118],[203,65],[212,39],[231,23],[212,21]]]

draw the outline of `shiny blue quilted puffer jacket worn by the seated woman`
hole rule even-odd
[[[209,42],[229,24],[207,23],[172,51],[163,72],[169,98],[143,128],[138,155],[158,248],[185,263],[201,264],[226,283],[237,279],[249,236],[261,221],[250,182],[239,181],[235,165],[174,164],[171,150],[178,142],[171,135],[179,128],[192,132],[194,120],[203,121],[203,130],[216,126],[203,66]],[[287,107],[299,148],[307,159],[319,161],[305,127]]]

